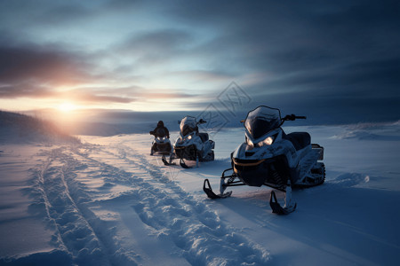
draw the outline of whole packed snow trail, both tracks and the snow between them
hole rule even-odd
[[[157,253],[167,246],[164,256],[172,264],[268,263],[267,251],[222,223],[132,148],[85,145],[44,153],[48,159],[36,170],[36,197],[56,228],[55,243],[76,264],[161,262],[153,246],[139,243],[136,235],[158,246]]]

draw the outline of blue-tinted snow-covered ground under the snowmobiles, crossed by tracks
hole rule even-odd
[[[268,187],[202,191],[218,191],[243,129],[212,134],[216,160],[190,169],[150,156],[147,134],[0,145],[0,264],[397,265],[400,124],[284,129],[310,132],[326,166],[286,216]]]

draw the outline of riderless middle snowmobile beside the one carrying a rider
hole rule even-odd
[[[196,121],[193,116],[186,116],[180,122],[180,137],[177,138],[174,145],[174,155],[172,159],[180,159],[182,168],[189,168],[185,160],[196,160],[196,168],[199,161],[214,160],[214,151],[212,149],[215,143],[209,139],[207,133],[199,133],[198,125],[206,121],[201,119]],[[165,165],[172,163],[163,160]]]

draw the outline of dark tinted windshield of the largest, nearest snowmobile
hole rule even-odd
[[[259,106],[247,113],[244,128],[253,139],[267,134],[269,131],[279,128],[281,125],[281,112],[279,109],[267,106]]]

